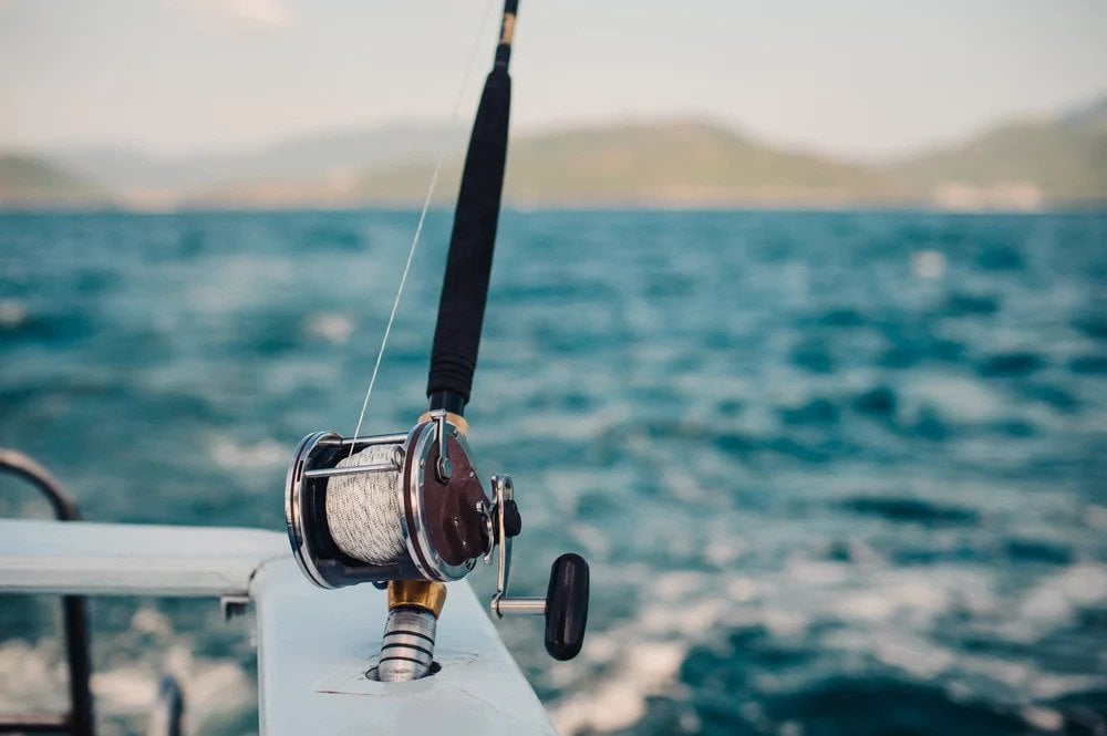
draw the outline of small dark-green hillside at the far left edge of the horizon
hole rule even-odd
[[[95,207],[108,203],[97,186],[49,162],[0,154],[0,209]]]

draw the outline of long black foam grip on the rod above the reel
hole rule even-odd
[[[507,63],[497,59],[485,81],[465,156],[426,386],[427,396],[453,394],[463,406],[473,391],[488,299],[510,110],[511,77]]]

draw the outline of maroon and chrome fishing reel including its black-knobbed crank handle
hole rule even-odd
[[[439,410],[423,415],[406,434],[344,438],[317,432],[304,437],[284,496],[297,564],[321,588],[393,583],[393,613],[416,608],[436,620],[445,589],[439,585],[435,593],[411,583],[461,580],[478,559],[490,564],[495,554],[493,612],[545,615],[547,651],[570,660],[584,636],[588,563],[579,554],[562,554],[554,562],[546,598],[507,594],[511,539],[523,520],[509,476],[493,476],[492,498],[485,494],[466,431],[463,417]],[[389,629],[386,646],[387,636]]]

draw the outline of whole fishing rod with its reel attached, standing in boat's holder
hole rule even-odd
[[[545,598],[508,594],[511,540],[523,529],[514,483],[494,475],[490,495],[485,491],[464,417],[499,222],[517,12],[518,0],[505,0],[495,61],[465,156],[431,351],[427,412],[403,433],[308,435],[296,448],[286,483],[289,541],[308,580],[321,588],[387,587],[389,618],[375,667],[385,682],[433,674],[443,583],[464,578],[478,558],[490,564],[496,557],[490,608],[498,618],[545,615],[546,650],[558,660],[576,656],[584,637],[589,571],[579,554],[554,561]]]

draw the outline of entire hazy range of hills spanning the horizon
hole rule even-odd
[[[111,149],[9,157],[0,206],[82,205],[103,201],[103,191],[137,208],[417,206],[443,149],[454,155],[435,200],[447,205],[464,139],[444,126],[396,125],[162,162]],[[1107,99],[887,165],[790,151],[702,121],[518,135],[505,186],[507,201],[526,207],[1105,207]]]

